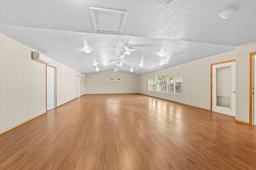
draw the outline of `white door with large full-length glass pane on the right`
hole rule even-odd
[[[236,116],[236,62],[212,66],[212,111]]]

